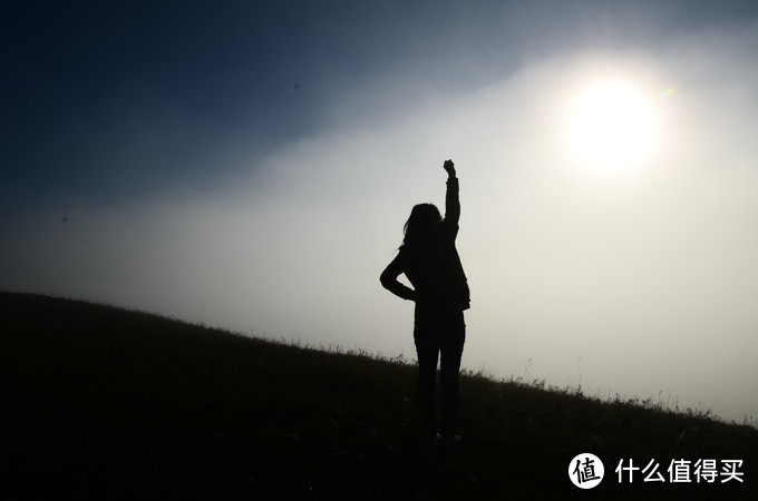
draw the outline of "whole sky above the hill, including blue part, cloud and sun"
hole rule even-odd
[[[0,53],[0,289],[414,358],[451,158],[464,366],[758,418],[756,2],[10,1]]]

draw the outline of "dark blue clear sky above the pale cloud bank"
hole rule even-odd
[[[752,2],[10,2],[3,198],[111,199],[204,187],[244,144],[324,127],[346,94],[398,75],[425,90],[497,81],[555,52],[654,48],[742,21]],[[356,96],[354,114],[361,109]],[[367,121],[371,120],[368,116]],[[128,158],[142,150],[140,161]],[[253,160],[254,158],[251,158]],[[255,167],[252,167],[255,168]]]

